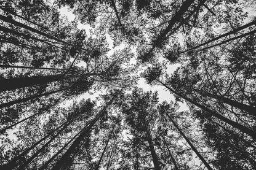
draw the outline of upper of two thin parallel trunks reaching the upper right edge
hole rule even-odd
[[[190,49],[185,50],[183,52],[180,52],[180,53],[178,53],[178,55],[180,55],[182,53],[185,53],[185,52],[188,52],[190,50],[194,50],[194,49],[196,49],[198,47],[202,47],[203,45],[209,44],[210,42],[217,41],[218,39],[221,39],[223,37],[226,37],[226,36],[229,36],[231,34],[234,34],[234,33],[238,32],[238,31],[241,31],[242,29],[248,28],[249,26],[252,26],[252,25],[255,25],[255,24],[256,24],[256,20],[252,21],[251,23],[247,23],[246,25],[240,26],[240,27],[238,27],[236,29],[233,29],[232,31],[230,31],[228,33],[222,34],[221,36],[215,37],[214,39],[211,39],[210,41],[207,41],[207,42],[204,42],[202,44],[196,45],[196,47],[193,47],[193,48],[190,48]]]

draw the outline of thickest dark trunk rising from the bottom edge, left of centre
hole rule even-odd
[[[76,151],[79,148],[79,144],[81,144],[82,140],[86,138],[90,132],[90,129],[95,125],[95,123],[98,121],[100,117],[104,114],[104,110],[113,102],[114,97],[111,99],[108,104],[106,104],[105,107],[97,114],[95,115],[94,119],[90,121],[88,126],[85,126],[82,129],[81,134],[74,140],[73,144],[66,150],[66,152],[62,155],[60,160],[57,161],[57,163],[54,165],[52,170],[58,170],[58,169],[64,169],[71,161],[71,158],[76,155]]]

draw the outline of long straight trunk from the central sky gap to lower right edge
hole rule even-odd
[[[157,80],[159,83],[161,83],[164,87],[166,87],[167,89],[169,89],[170,91],[172,91],[172,93],[174,93],[175,95],[177,96],[180,96],[181,98],[185,99],[186,101],[188,102],[191,102],[192,104],[194,104],[194,106],[197,106],[199,108],[201,108],[202,110],[208,112],[210,115],[222,120],[223,122],[225,123],[228,123],[229,125],[233,126],[234,128],[237,128],[239,129],[240,131],[242,131],[243,133],[246,133],[248,134],[249,136],[252,136],[256,139],[256,133],[255,131],[253,131],[252,129],[250,128],[247,128],[246,126],[244,125],[240,125],[239,123],[237,122],[234,122],[233,120],[230,120],[226,117],[223,117],[223,115],[220,115],[220,114],[217,114],[216,112],[214,112],[213,110],[205,107],[205,106],[202,106],[201,104],[199,104],[198,102],[195,102],[193,101],[192,99],[186,97],[185,95],[182,95],[180,93],[178,93],[177,91],[174,91],[172,90],[172,88],[169,88],[167,87],[167,85],[165,85],[164,83],[162,83],[160,80]]]

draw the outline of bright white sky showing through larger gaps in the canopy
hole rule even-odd
[[[75,15],[72,13],[72,11],[70,9],[68,9],[68,7],[62,7],[61,9],[59,9],[60,15],[62,15],[63,17],[67,17],[68,20],[72,21],[75,18]],[[86,30],[86,34],[89,36],[90,32],[89,30],[92,29],[90,28],[89,25],[83,25],[81,23],[78,23],[78,29],[85,29]],[[182,35],[178,36],[179,42],[182,42]],[[107,55],[111,55],[113,54],[114,50],[118,50],[121,48],[124,48],[124,44],[119,45],[118,47],[113,48],[113,40],[111,39],[111,37],[107,34],[106,35],[106,42],[108,42],[109,47],[110,47],[110,51],[108,52]],[[179,64],[174,64],[174,65],[169,65],[167,67],[167,72],[169,74],[172,74],[177,68],[178,68]],[[163,102],[163,101],[175,101],[175,97],[174,95],[170,94],[169,90],[167,90],[166,88],[162,87],[162,86],[151,86],[148,85],[145,80],[143,78],[138,80],[138,87],[143,88],[144,91],[158,91],[158,98],[159,98],[159,102]],[[90,95],[89,93],[85,93],[84,95],[81,95],[77,98],[77,100],[79,101],[80,99],[84,98],[91,98],[91,99],[95,99],[100,93],[94,93],[94,95]],[[68,104],[68,102],[65,102],[63,105]],[[186,105],[185,102],[179,102],[180,104],[180,109],[178,109],[179,111],[183,111],[183,110],[188,110],[188,106]]]

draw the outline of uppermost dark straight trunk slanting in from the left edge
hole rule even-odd
[[[20,26],[20,27],[25,28],[25,29],[28,29],[28,30],[30,30],[30,31],[33,31],[34,33],[38,33],[38,34],[40,34],[40,35],[42,35],[42,36],[48,37],[48,38],[50,38],[50,39],[54,39],[55,41],[62,42],[63,44],[71,45],[70,43],[65,42],[65,41],[62,41],[62,40],[60,40],[60,39],[57,39],[57,38],[55,38],[54,36],[50,36],[50,35],[48,35],[48,34],[46,34],[46,33],[42,33],[42,32],[39,31],[38,29],[34,29],[34,28],[32,28],[32,27],[30,27],[30,26],[27,26],[27,25],[25,25],[25,24],[23,24],[23,23],[20,23],[20,22],[18,22],[18,21],[12,20],[12,19],[7,18],[7,17],[4,17],[4,15],[0,15],[0,20],[6,21],[7,23],[12,23],[13,25]]]

